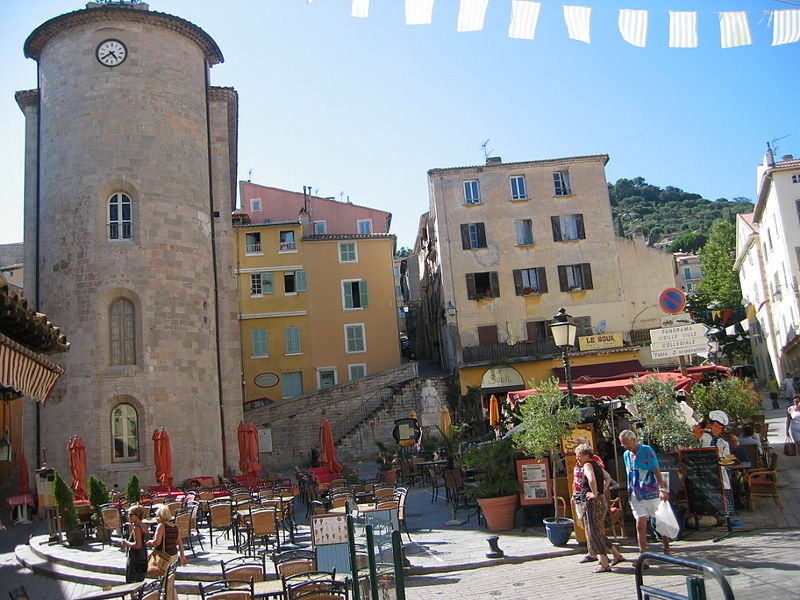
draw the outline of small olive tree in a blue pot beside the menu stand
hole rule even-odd
[[[563,546],[569,539],[574,522],[558,516],[555,467],[556,461],[560,460],[558,447],[561,438],[579,423],[580,411],[558,387],[556,378],[542,382],[529,381],[528,385],[536,391],[519,405],[520,425],[513,437],[514,444],[534,458],[542,458],[545,454],[550,456],[554,516],[544,519],[544,524],[547,539],[553,545]]]

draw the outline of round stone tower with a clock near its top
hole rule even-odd
[[[28,429],[69,476],[154,483],[153,432],[175,483],[238,461],[242,415],[230,213],[237,106],[202,29],[141,3],[89,3],[25,42],[26,295],[72,342]],[[28,415],[35,411],[27,411]],[[29,422],[31,418],[29,417]],[[34,429],[35,431],[31,431]]]

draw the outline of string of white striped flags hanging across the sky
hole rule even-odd
[[[309,4],[313,0],[306,0]],[[456,31],[481,31],[489,8],[489,0],[459,0]],[[433,21],[435,0],[405,0],[406,25],[430,25]],[[532,40],[542,8],[534,0],[511,0],[511,20],[508,37]],[[588,6],[564,5],[564,24],[570,39],[591,43],[592,9]],[[669,47],[696,48],[697,11],[669,12]],[[639,48],[647,45],[647,10],[620,9],[618,27],[622,39]],[[352,0],[351,16],[367,18],[369,0]],[[772,27],[772,45],[793,44],[800,41],[800,10],[765,11]],[[719,12],[720,45],[723,48],[749,46],[753,43],[746,11]]]

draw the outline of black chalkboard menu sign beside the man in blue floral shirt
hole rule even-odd
[[[689,510],[695,515],[725,514],[725,497],[716,448],[679,450],[686,481]]]

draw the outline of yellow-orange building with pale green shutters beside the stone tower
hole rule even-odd
[[[235,228],[246,403],[400,364],[395,236],[310,235],[301,219]]]

